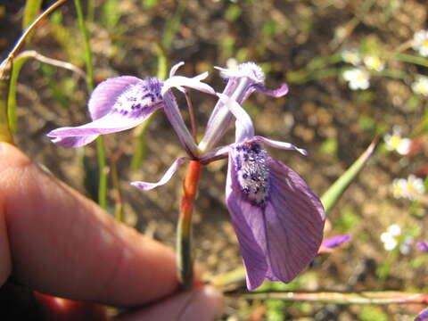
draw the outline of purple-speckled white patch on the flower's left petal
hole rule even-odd
[[[156,78],[148,78],[144,84],[128,86],[117,98],[112,111],[122,116],[137,117],[145,107],[160,103],[161,100],[161,82]]]

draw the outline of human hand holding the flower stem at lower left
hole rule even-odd
[[[9,277],[12,282],[6,283]],[[2,298],[11,288],[8,284],[17,283],[71,300],[119,308],[145,305],[118,321],[213,320],[221,315],[221,295],[203,287],[197,273],[195,277],[199,285],[193,291],[177,292],[173,251],[118,223],[18,149],[0,143],[0,285],[6,283],[0,289]],[[99,305],[61,307],[50,299],[37,294],[51,318],[70,319],[72,310],[80,310],[106,319]],[[79,316],[72,319],[83,319]]]

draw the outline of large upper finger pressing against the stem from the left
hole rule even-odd
[[[174,253],[0,144],[13,276],[39,292],[131,307],[177,290]]]

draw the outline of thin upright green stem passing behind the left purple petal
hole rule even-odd
[[[78,27],[80,28],[85,42],[85,62],[86,62],[86,85],[87,91],[94,90],[94,66],[92,63],[92,51],[89,43],[89,33],[86,29],[85,17],[83,15],[80,0],[74,0],[76,12],[78,14]],[[105,160],[103,136],[96,138],[96,152],[98,159],[99,185],[98,185],[98,205],[105,209],[107,207],[107,162]]]

